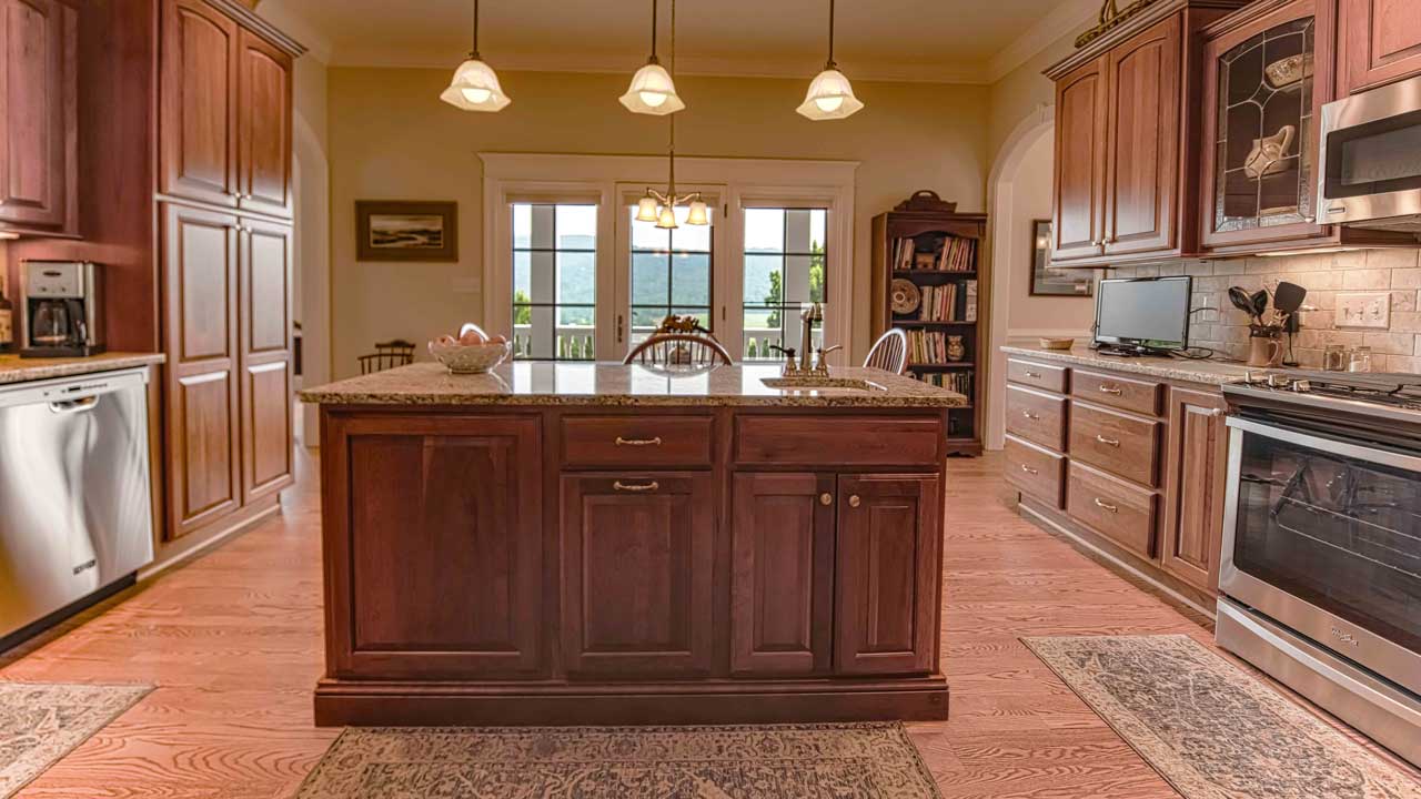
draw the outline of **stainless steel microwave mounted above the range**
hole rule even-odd
[[[1421,77],[1323,105],[1319,222],[1421,233]]]

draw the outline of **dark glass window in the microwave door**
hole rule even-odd
[[[1327,134],[1331,199],[1421,189],[1421,111]]]

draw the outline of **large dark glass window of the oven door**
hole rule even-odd
[[[1421,651],[1421,473],[1245,432],[1233,562]]]

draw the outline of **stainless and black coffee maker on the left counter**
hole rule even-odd
[[[104,297],[97,264],[21,262],[21,358],[82,358],[104,351]]]

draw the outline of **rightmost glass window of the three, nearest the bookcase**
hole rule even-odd
[[[801,306],[828,303],[827,227],[823,208],[745,209],[745,360],[780,358],[772,347],[803,351]],[[823,341],[820,327],[809,345]]]

